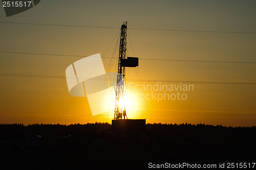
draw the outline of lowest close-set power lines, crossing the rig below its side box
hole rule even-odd
[[[46,75],[22,75],[22,74],[3,74],[0,73],[0,77],[26,77],[26,78],[51,78],[51,79],[66,79],[65,76],[46,76]],[[68,77],[68,79],[76,79],[75,77]],[[84,78],[80,78],[84,79]],[[99,78],[91,78],[93,80],[102,80]],[[112,80],[112,79],[110,79]],[[178,80],[148,80],[148,79],[126,79],[127,81],[142,81],[142,82],[164,82],[164,83],[195,83],[195,84],[238,84],[238,85],[256,85],[251,82],[213,82],[213,81],[178,81]]]

